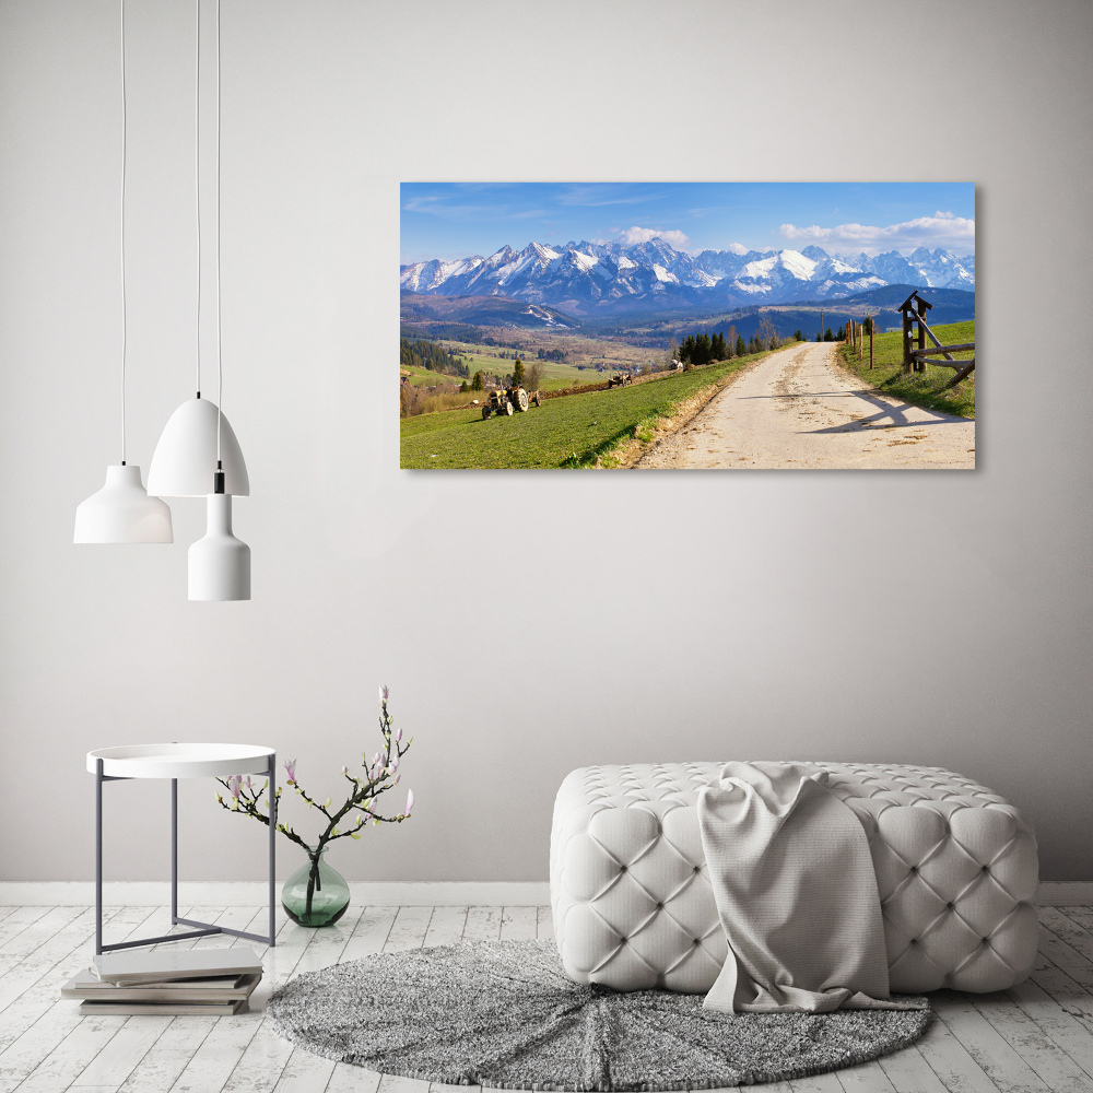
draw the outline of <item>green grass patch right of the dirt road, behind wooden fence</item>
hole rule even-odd
[[[931,327],[941,339],[942,345],[960,345],[975,341],[975,320],[971,322],[948,322]],[[863,360],[858,361],[857,350],[844,345],[839,349],[842,363],[867,383],[885,395],[894,395],[915,406],[943,413],[975,418],[975,373],[949,391],[942,388],[955,373],[951,368],[927,365],[926,372],[905,374],[903,371],[903,332],[873,336],[873,367],[869,367],[869,339],[865,341]],[[940,356],[940,354],[937,354]],[[953,353],[957,361],[971,360],[975,353]]]

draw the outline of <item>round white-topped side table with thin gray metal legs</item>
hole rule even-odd
[[[256,744],[127,744],[99,748],[87,752],[87,769],[95,775],[95,953],[114,949],[156,945],[164,941],[203,938],[211,933],[230,933],[249,941],[273,945],[277,940],[273,872],[277,856],[277,754],[272,748]],[[259,774],[269,778],[266,797],[269,801],[269,871],[270,926],[269,937],[245,933],[226,926],[198,922],[178,915],[178,779],[226,778],[236,774]],[[168,933],[160,938],[103,944],[103,783],[128,778],[171,779],[171,921],[192,926],[186,933]]]

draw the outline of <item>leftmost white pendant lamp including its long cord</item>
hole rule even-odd
[[[106,468],[106,484],[75,510],[77,543],[169,543],[171,509],[150,497],[140,468],[126,461],[126,5],[121,0],[121,462]]]

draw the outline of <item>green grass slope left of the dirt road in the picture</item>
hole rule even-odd
[[[593,467],[616,444],[754,360],[745,356],[634,387],[548,399],[512,418],[483,420],[478,409],[403,418],[401,466]]]

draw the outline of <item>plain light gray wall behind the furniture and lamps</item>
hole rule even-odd
[[[192,393],[192,10],[129,13],[146,469]],[[223,23],[255,599],[196,604],[199,502],[173,546],[70,542],[118,458],[117,4],[0,4],[0,877],[92,875],[91,748],[268,741],[337,792],[387,682],[420,804],[336,851],[352,880],[543,879],[572,767],[734,756],[953,767],[1026,811],[1045,879],[1093,879],[1086,3],[224,0]],[[980,469],[399,471],[399,181],[658,178],[974,180]],[[186,874],[260,878],[258,826],[183,796]],[[165,874],[164,802],[108,787],[111,877]]]

